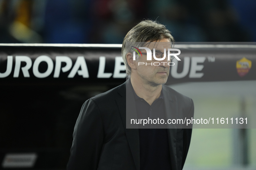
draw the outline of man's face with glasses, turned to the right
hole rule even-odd
[[[135,65],[136,65],[135,73],[137,74],[137,76],[139,76],[142,79],[142,81],[145,84],[148,84],[151,86],[165,84],[169,76],[169,69],[170,69],[170,66],[168,65],[170,61],[167,60],[167,49],[171,48],[171,43],[169,39],[162,39],[160,41],[158,40],[158,41],[149,42],[149,43],[146,43],[144,47],[148,47],[152,51],[153,51],[153,48],[155,48],[156,52],[160,51],[162,53],[164,53],[164,49],[166,49],[166,57],[164,60],[161,60],[161,61],[154,60],[153,57],[152,57],[153,60],[147,60],[147,55],[143,54],[135,62]],[[146,53],[146,50],[141,49],[141,53]],[[143,62],[145,64],[139,64],[139,62]],[[152,63],[152,66],[151,66],[151,63]]]

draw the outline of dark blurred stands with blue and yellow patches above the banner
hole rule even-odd
[[[175,41],[256,41],[255,0],[0,0],[0,43],[121,44],[143,19]]]

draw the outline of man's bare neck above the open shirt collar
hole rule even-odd
[[[142,81],[142,79],[137,79],[135,76],[131,76],[131,83],[135,93],[143,98],[148,104],[152,104],[157,98],[160,97],[162,85],[150,85]]]

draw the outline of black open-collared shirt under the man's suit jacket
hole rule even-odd
[[[135,93],[136,112],[138,119],[164,119],[164,97],[161,95],[151,106]],[[140,128],[152,128],[153,125],[143,124]],[[171,159],[167,129],[139,129],[140,170],[171,170]]]

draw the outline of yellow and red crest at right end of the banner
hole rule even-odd
[[[237,60],[237,73],[240,77],[245,76],[252,67],[252,61],[243,57],[241,60]]]

